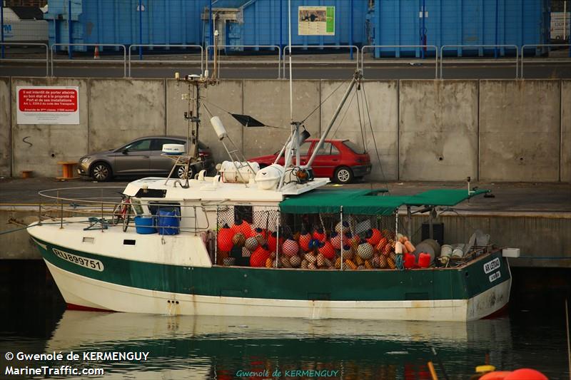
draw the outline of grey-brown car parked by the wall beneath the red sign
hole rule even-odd
[[[116,176],[166,176],[171,172],[174,161],[162,155],[164,144],[186,146],[186,138],[165,135],[137,138],[121,148],[84,155],[79,159],[77,172],[81,176],[101,182]],[[188,173],[190,178],[200,170],[208,172],[214,167],[211,151],[201,142],[198,142],[198,155],[201,160],[191,165],[191,173]],[[178,178],[186,178],[186,168],[179,166],[174,174]]]

